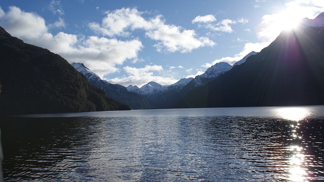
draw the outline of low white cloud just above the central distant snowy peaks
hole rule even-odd
[[[111,83],[118,83],[124,86],[128,86],[130,84],[135,84],[139,87],[143,86],[144,84],[155,81],[162,85],[170,85],[177,82],[177,79],[163,77],[163,76],[154,76],[155,72],[163,72],[163,67],[160,65],[146,65],[143,68],[135,68],[126,66],[123,68],[128,76],[126,77],[117,77],[113,79],[109,79],[108,81]]]

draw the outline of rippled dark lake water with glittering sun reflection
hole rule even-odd
[[[1,118],[5,181],[324,180],[324,106]]]

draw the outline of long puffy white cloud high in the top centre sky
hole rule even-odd
[[[136,8],[123,8],[106,14],[101,24],[91,22],[89,27],[97,33],[111,37],[127,37],[132,31],[143,30],[147,37],[157,41],[154,47],[158,52],[187,53],[199,47],[213,47],[216,44],[208,37],[197,37],[194,30],[166,24],[161,15],[145,19],[144,12]]]

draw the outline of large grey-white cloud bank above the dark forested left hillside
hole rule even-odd
[[[4,11],[0,8],[0,12]],[[85,63],[100,77],[118,71],[116,65],[136,59],[143,48],[138,39],[121,41],[116,38],[84,37],[64,32],[53,35],[48,32],[44,18],[21,11],[17,7],[10,7],[7,13],[2,13],[0,25],[13,36],[47,48],[70,63]]]

